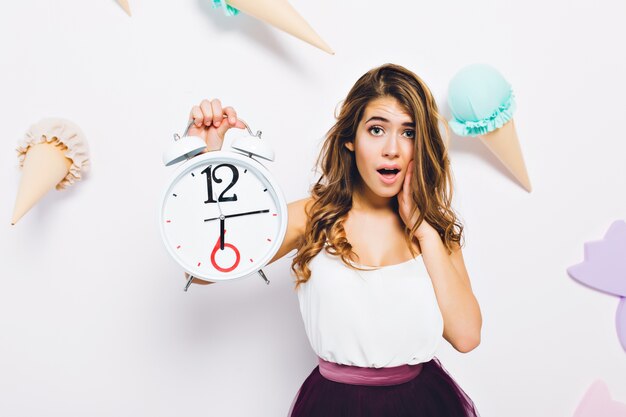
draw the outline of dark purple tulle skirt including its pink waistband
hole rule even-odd
[[[289,412],[289,417],[387,416],[477,417],[478,412],[437,359],[381,369],[320,360]]]

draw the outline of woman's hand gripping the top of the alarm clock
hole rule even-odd
[[[237,119],[237,112],[232,107],[222,108],[219,99],[202,100],[200,105],[193,106],[189,121],[193,124],[187,132],[190,136],[199,136],[207,144],[207,151],[222,149],[224,135],[228,129],[236,127],[244,129],[245,125]]]

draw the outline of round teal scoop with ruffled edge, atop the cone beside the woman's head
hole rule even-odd
[[[507,80],[495,68],[473,64],[450,81],[450,128],[459,136],[493,132],[513,118],[515,98]]]

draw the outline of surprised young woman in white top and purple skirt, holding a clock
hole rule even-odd
[[[243,127],[204,100],[191,134],[209,150]],[[364,74],[342,104],[311,196],[289,204],[278,259],[291,268],[319,366],[291,417],[478,415],[434,358],[441,336],[469,352],[482,318],[461,253],[463,227],[435,101],[397,65]]]

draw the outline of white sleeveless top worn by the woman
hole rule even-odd
[[[421,256],[368,271],[320,251],[311,278],[298,288],[313,351],[344,365],[386,368],[433,358],[443,317]]]

